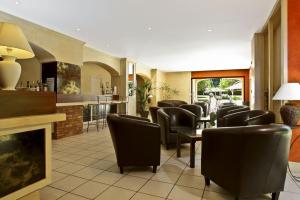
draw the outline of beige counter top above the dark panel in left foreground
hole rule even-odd
[[[64,113],[11,117],[11,118],[0,119],[0,130],[4,130],[8,128],[33,126],[39,124],[47,124],[52,122],[64,121],[64,120],[66,120],[66,114]]]

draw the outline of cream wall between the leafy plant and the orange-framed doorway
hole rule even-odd
[[[179,91],[178,95],[172,96],[172,99],[191,102],[191,72],[168,72],[165,76],[166,83]]]

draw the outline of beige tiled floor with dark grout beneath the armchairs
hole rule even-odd
[[[116,166],[108,129],[90,131],[79,136],[53,141],[52,184],[41,190],[42,200],[227,200],[233,199],[213,184],[205,187],[200,172],[200,144],[197,146],[196,168],[189,167],[189,148],[182,158],[175,149],[161,149],[161,166],[125,168],[123,175]],[[291,163],[300,175],[300,165]],[[300,185],[300,184],[299,184]],[[257,199],[270,199],[262,196]],[[300,189],[287,175],[285,192],[280,200],[299,200]]]

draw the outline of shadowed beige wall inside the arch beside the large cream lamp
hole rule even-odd
[[[18,60],[17,62],[20,63],[22,68],[19,82],[22,81],[23,86],[26,86],[27,81],[36,82],[41,80],[41,64],[36,58]]]

